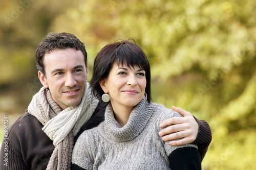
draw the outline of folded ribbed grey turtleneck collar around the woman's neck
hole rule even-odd
[[[105,111],[105,121],[101,126],[102,135],[116,142],[134,139],[145,128],[156,106],[155,103],[148,103],[144,96],[131,112],[126,125],[121,127],[114,117],[111,104],[109,104]]]

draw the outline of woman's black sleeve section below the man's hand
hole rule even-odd
[[[201,159],[197,148],[184,147],[174,150],[168,156],[170,169],[202,169]]]

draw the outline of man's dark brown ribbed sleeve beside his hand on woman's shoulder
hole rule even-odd
[[[192,143],[196,144],[198,146],[201,161],[203,161],[203,158],[208,150],[209,144],[212,139],[211,129],[205,120],[199,120],[195,116],[194,116],[194,118],[197,120],[197,122],[199,124],[199,129],[198,129],[197,138]]]

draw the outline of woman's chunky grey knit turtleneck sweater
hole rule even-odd
[[[143,98],[132,111],[127,124],[120,127],[111,105],[108,105],[105,121],[84,131],[78,138],[72,163],[84,169],[170,169],[172,163],[186,163],[179,156],[170,157],[175,150],[194,148],[189,153],[183,152],[197,155],[201,167],[197,145],[171,146],[158,135],[160,123],[176,116],[181,117],[178,112],[160,104],[149,104]]]

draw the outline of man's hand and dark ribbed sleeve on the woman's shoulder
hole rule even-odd
[[[170,145],[197,144],[201,160],[203,160],[212,138],[209,125],[204,120],[198,120],[191,113],[181,108],[173,106],[172,109],[179,112],[183,117],[173,117],[164,120],[160,127],[174,125],[161,130],[159,135],[163,136],[164,141],[172,140],[169,142]],[[174,140],[178,138],[182,139]]]

